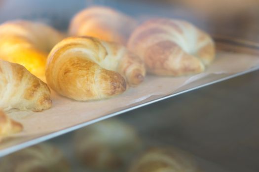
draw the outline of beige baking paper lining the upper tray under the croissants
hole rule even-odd
[[[183,86],[194,87],[193,82],[202,81],[212,74],[219,79],[255,66],[259,66],[259,57],[221,52],[217,54],[212,65],[201,74],[184,77],[148,75],[140,86],[129,88],[121,95],[100,101],[77,102],[52,91],[51,109],[40,113],[12,112],[9,115],[24,125],[24,131],[15,137],[44,135],[172,94]]]

